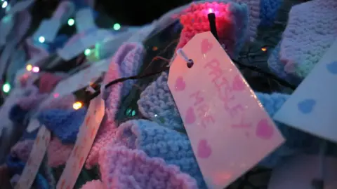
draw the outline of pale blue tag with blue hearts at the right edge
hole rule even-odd
[[[337,41],[275,114],[275,120],[337,142]]]

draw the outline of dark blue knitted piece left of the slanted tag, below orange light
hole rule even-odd
[[[86,109],[60,110],[51,109],[42,111],[38,120],[53,132],[64,144],[74,144],[77,139],[79,127],[86,116]]]

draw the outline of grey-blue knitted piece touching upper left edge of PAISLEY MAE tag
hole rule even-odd
[[[168,73],[163,72],[140,94],[138,109],[145,118],[169,128],[183,129],[183,120],[167,85]]]

